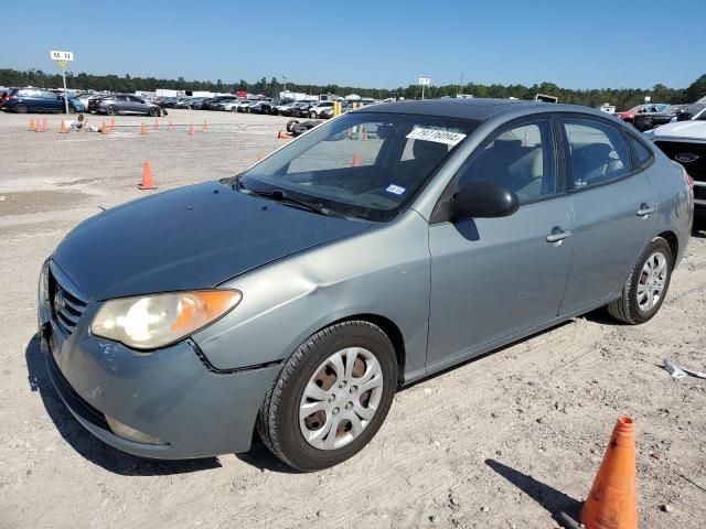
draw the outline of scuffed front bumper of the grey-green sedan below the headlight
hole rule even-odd
[[[121,451],[153,458],[207,457],[249,450],[257,411],[279,365],[222,375],[207,369],[191,341],[151,354],[93,336],[97,303],[66,334],[40,281],[42,350],[54,387],[74,417]],[[115,435],[109,415],[164,444]]]

